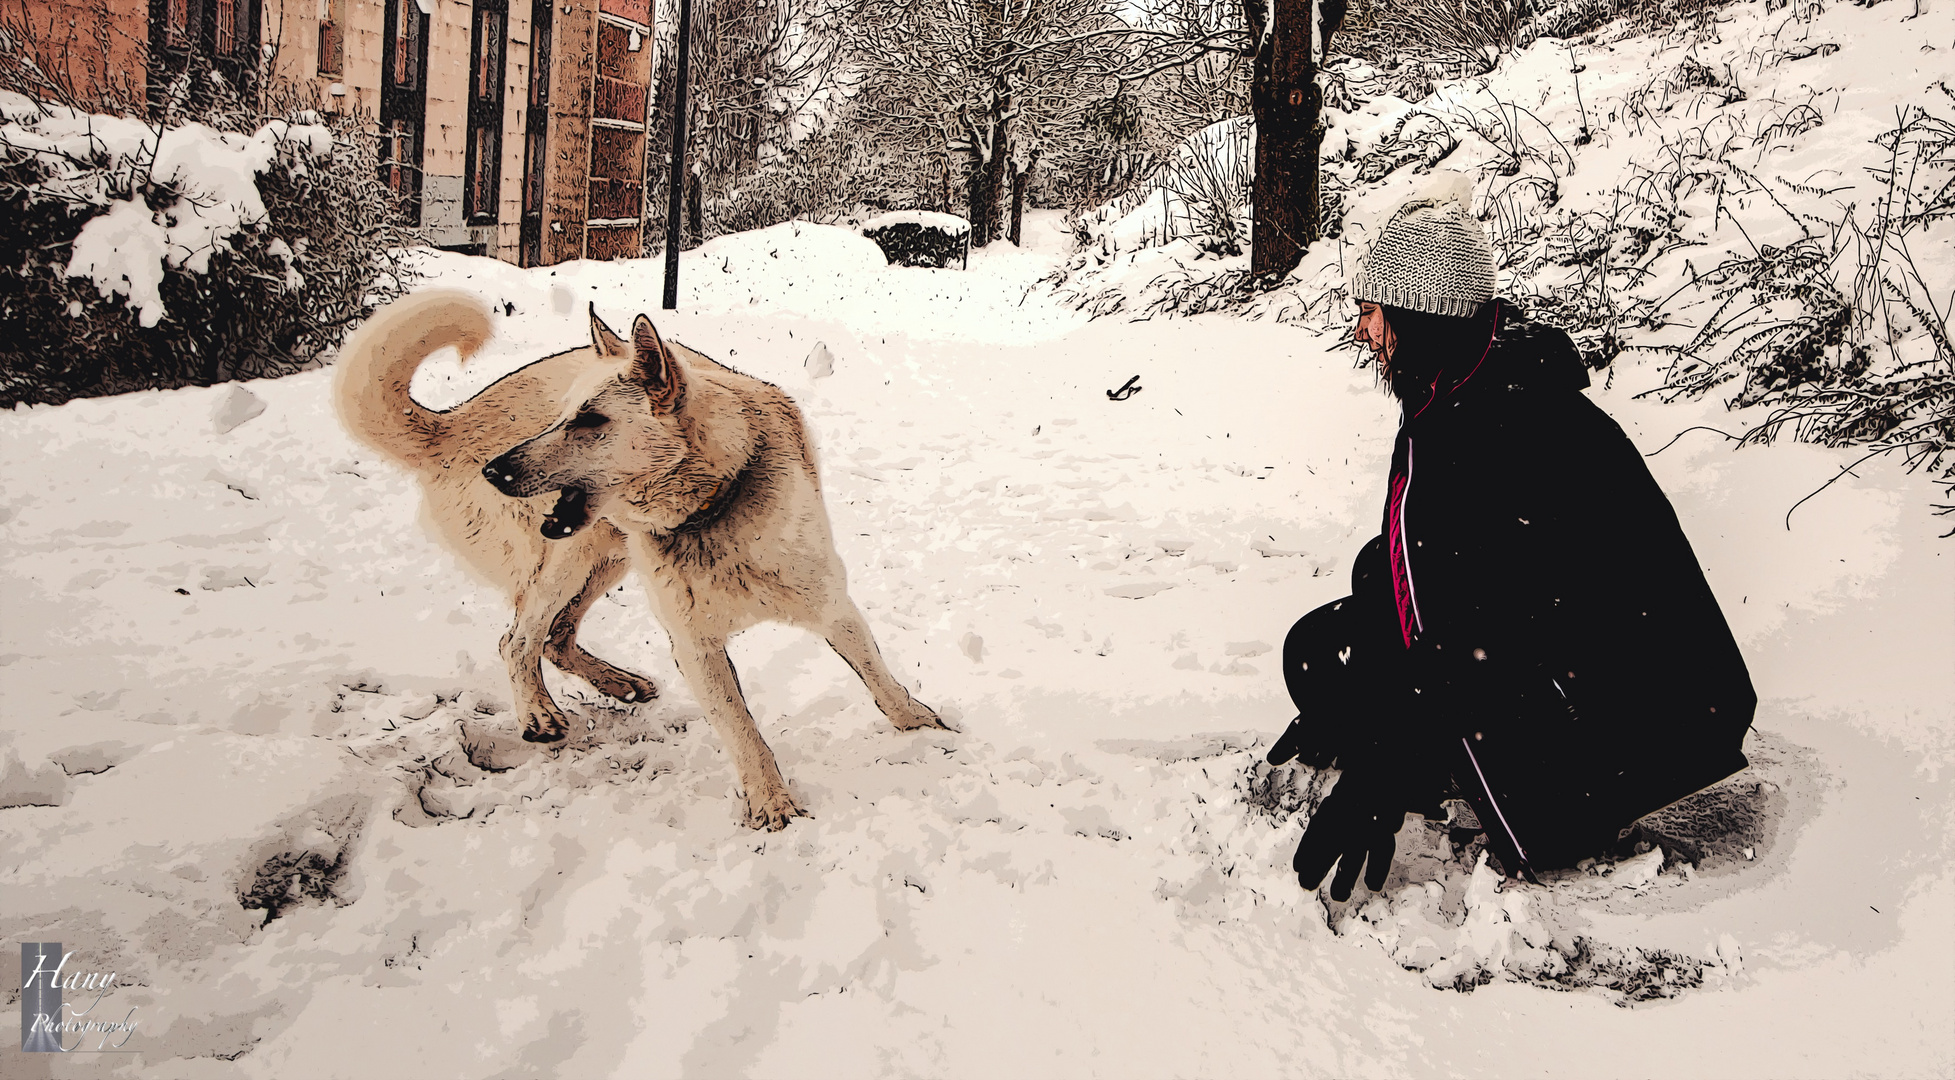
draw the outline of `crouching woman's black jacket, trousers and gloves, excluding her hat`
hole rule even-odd
[[[1507,873],[1574,865],[1746,767],[1750,673],[1642,454],[1582,395],[1564,333],[1499,301],[1482,319],[1386,319],[1406,419],[1384,534],[1351,597],[1284,642],[1302,716],[1271,761],[1343,769],[1298,869],[1304,849],[1365,845],[1363,814],[1327,812],[1353,781],[1368,808],[1417,812],[1456,785]]]

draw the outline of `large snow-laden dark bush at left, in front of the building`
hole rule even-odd
[[[0,90],[0,405],[280,376],[403,288],[354,119],[147,123]]]

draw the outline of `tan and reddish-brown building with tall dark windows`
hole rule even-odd
[[[0,0],[84,100],[184,70],[368,117],[446,248],[524,266],[639,254],[651,0]]]

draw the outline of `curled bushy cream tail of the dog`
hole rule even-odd
[[[346,338],[334,364],[340,423],[407,466],[438,460],[448,415],[409,397],[409,380],[430,352],[456,346],[467,360],[491,335],[487,305],[459,290],[416,292],[383,307]]]

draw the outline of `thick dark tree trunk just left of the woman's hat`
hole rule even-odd
[[[1245,0],[1257,22],[1259,4]],[[1318,129],[1324,92],[1316,84],[1310,0],[1277,0],[1255,55],[1249,108],[1255,113],[1255,184],[1249,272],[1282,278],[1318,239]]]

